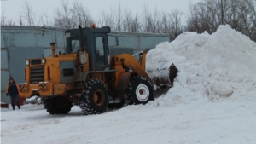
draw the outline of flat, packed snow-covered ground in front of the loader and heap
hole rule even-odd
[[[18,143],[256,143],[256,101],[128,106],[84,116],[49,115],[42,105],[3,110],[1,141]]]

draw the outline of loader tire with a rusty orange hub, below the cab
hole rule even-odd
[[[79,107],[82,108],[85,115],[100,114],[107,111],[108,89],[102,81],[91,79],[85,84]]]

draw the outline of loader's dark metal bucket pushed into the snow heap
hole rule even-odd
[[[154,71],[156,71],[154,73],[157,74],[151,74],[153,77],[152,80],[159,90],[168,89],[173,86],[173,80],[176,78],[178,72],[177,67],[173,63],[171,66],[169,66],[169,68],[165,67]],[[149,70],[149,75],[150,72],[152,71]]]

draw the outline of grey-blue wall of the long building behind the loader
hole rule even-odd
[[[65,28],[37,26],[1,26],[1,101],[10,102],[4,90],[13,76],[24,83],[25,60],[51,56],[49,43],[55,42],[56,54],[65,52]],[[115,37],[119,45],[115,45]],[[110,53],[135,54],[154,48],[158,43],[170,41],[169,35],[141,32],[111,32],[108,35]]]

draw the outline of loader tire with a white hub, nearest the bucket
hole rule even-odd
[[[129,105],[146,104],[154,100],[153,86],[147,78],[134,76],[126,89],[126,96]]]

